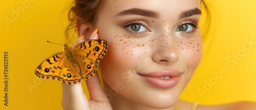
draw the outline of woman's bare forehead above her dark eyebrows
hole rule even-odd
[[[186,10],[200,9],[200,0],[111,0],[105,2],[101,11],[114,16],[123,10],[132,8],[154,10],[159,12],[161,17],[165,17],[178,15]]]

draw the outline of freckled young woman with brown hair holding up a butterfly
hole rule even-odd
[[[71,13],[77,43],[104,39],[109,47],[100,71],[86,81],[90,100],[80,83],[62,84],[63,108],[256,109],[253,102],[204,106],[178,100],[202,55],[201,5],[200,0],[76,0]]]

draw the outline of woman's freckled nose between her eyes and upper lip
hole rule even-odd
[[[172,64],[179,60],[177,41],[173,36],[161,36],[153,53],[153,60],[159,64]]]

